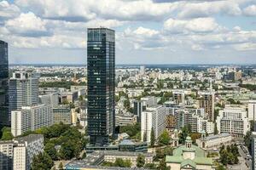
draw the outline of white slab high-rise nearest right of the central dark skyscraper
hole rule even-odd
[[[146,141],[150,143],[150,134],[154,130],[154,137],[157,139],[161,133],[166,129],[166,107],[155,106],[148,107],[146,111],[142,112],[141,134],[142,140],[146,133]]]

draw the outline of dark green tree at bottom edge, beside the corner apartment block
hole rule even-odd
[[[53,166],[54,162],[45,152],[39,153],[38,156],[34,156],[32,159],[32,170],[50,170]]]

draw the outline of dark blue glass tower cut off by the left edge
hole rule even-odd
[[[10,125],[8,111],[8,43],[0,40],[0,126]]]

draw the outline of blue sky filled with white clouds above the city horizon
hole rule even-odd
[[[256,64],[256,0],[0,0],[10,64],[86,64],[99,26],[117,64]]]

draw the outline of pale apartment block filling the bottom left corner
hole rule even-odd
[[[30,134],[22,138],[0,141],[0,169],[29,170],[33,156],[44,149],[44,136]]]

